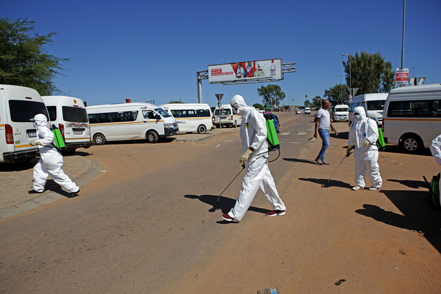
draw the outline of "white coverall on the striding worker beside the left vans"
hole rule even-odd
[[[58,185],[70,193],[79,191],[79,187],[61,169],[63,156],[55,147],[52,147],[54,146],[54,134],[48,127],[48,119],[43,114],[37,114],[34,119],[37,125],[41,158],[34,166],[34,185],[32,189],[43,192],[46,179],[50,176]]]

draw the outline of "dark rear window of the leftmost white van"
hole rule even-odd
[[[44,114],[48,118],[48,111],[43,102],[10,100],[9,109],[11,120],[16,123],[30,123],[30,119],[37,114]]]

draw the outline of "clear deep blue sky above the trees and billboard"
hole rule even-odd
[[[402,0],[342,1],[6,1],[0,17],[37,21],[35,32],[58,32],[46,50],[72,59],[54,79],[88,105],[172,100],[197,103],[196,72],[208,65],[262,59],[295,62],[276,83],[285,105],[323,96],[345,83],[342,54],[380,52],[401,65]],[[407,0],[404,67],[409,76],[441,83],[441,1]],[[413,69],[413,67],[415,67]],[[203,81],[203,103],[241,94],[261,103],[258,87]],[[293,100],[294,99],[294,100]]]

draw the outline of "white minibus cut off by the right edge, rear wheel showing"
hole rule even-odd
[[[429,148],[441,134],[441,84],[391,90],[382,127],[385,142],[400,145],[404,151]]]

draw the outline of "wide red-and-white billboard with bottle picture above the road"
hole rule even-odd
[[[252,83],[283,80],[282,59],[208,65],[209,83]]]

